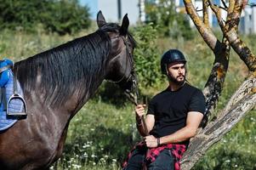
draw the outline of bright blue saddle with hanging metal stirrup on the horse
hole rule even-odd
[[[0,104],[3,107],[3,111],[6,111],[7,116],[26,116],[26,101],[22,97],[22,95],[18,93],[17,78],[13,76],[13,72],[11,71],[13,65],[13,61],[9,59],[0,60]],[[7,84],[7,82],[9,82],[10,78],[12,78],[13,80],[13,89],[11,92],[11,96],[9,97],[9,99],[7,99],[7,89],[5,85]],[[9,105],[15,105],[20,102],[24,105],[23,111],[9,111]]]

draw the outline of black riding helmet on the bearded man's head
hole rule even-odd
[[[186,63],[185,56],[178,49],[169,49],[162,55],[161,59],[161,71],[162,74],[166,74],[167,65],[174,62]]]

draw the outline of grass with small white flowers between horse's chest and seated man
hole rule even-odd
[[[70,161],[82,167],[118,167],[134,141],[133,111],[132,105],[89,101],[71,120],[60,167],[67,168]]]

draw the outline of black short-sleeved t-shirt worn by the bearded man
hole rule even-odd
[[[202,91],[188,83],[177,91],[166,89],[156,94],[148,106],[147,114],[155,116],[155,125],[150,134],[156,138],[175,133],[185,127],[189,111],[205,111]],[[185,141],[185,144],[188,141]]]

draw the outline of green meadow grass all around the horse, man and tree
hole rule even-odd
[[[90,31],[82,31],[79,37]],[[74,37],[59,37],[55,34],[26,34],[22,31],[1,31],[0,55],[14,59],[26,59]],[[255,36],[243,37],[255,54]],[[254,39],[253,39],[254,38]],[[175,43],[168,38],[158,40],[164,44],[162,51],[171,47],[181,48],[188,59],[189,82],[203,88],[213,64],[213,54],[201,37],[189,42]],[[216,111],[221,110],[241,84],[247,71],[239,57],[231,52],[230,67],[225,79],[225,88]],[[143,91],[149,98],[166,87],[166,83]],[[256,169],[256,111],[250,111],[237,123],[225,138],[214,144],[196,164],[194,169]],[[139,140],[134,121],[134,106],[109,83],[105,82],[94,99],[82,107],[71,120],[63,156],[51,169],[121,169],[120,164],[134,142]]]

